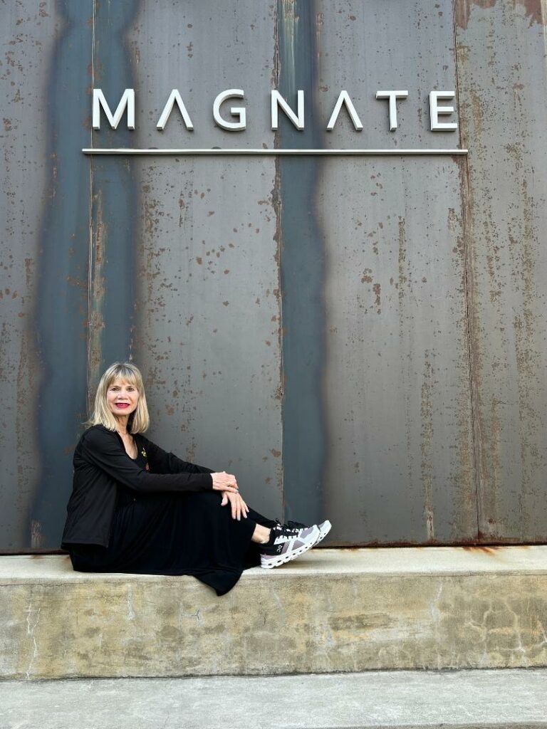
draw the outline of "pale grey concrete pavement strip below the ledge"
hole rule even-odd
[[[0,682],[1,729],[547,728],[547,670]]]

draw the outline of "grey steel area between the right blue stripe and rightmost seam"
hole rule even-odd
[[[448,7],[446,7],[448,5]],[[449,4],[317,5],[319,106],[349,91],[330,147],[458,147],[432,133],[428,95],[455,90]],[[424,52],[427,49],[427,52]],[[389,130],[376,90],[408,90]],[[476,489],[460,169],[451,157],[327,159],[325,231],[333,542],[450,543],[476,537]]]

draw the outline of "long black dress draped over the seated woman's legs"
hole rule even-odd
[[[146,468],[140,451],[133,460]],[[220,491],[143,493],[118,484],[108,547],[70,545],[72,566],[78,572],[190,574],[224,595],[244,569],[260,564],[260,547],[251,542],[257,523],[275,522],[252,509],[237,521],[221,501]]]

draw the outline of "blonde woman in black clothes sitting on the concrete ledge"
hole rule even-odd
[[[166,453],[144,437],[149,423],[139,369],[112,364],[74,451],[61,547],[75,570],[192,574],[224,595],[244,569],[284,564],[330,530],[249,509],[235,476]]]

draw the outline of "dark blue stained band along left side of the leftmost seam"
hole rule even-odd
[[[54,7],[61,11],[62,22],[47,69],[44,109],[53,194],[44,200],[36,292],[42,464],[30,506],[31,547],[44,550],[59,547],[74,443],[87,414],[89,171],[79,150],[90,141],[86,106],[92,8],[88,2],[76,6],[68,0]]]

